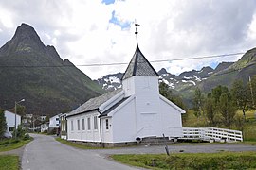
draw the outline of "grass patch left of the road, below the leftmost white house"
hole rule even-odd
[[[32,141],[32,138],[30,137],[29,140],[4,140],[0,142],[0,152],[5,152],[13,149],[17,149],[22,147],[23,145],[29,143]],[[0,168],[1,169],[1,168]]]

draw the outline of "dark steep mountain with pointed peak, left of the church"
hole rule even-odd
[[[0,48],[0,107],[10,109],[25,98],[26,112],[53,115],[104,93],[100,86],[45,46],[33,27],[22,24]]]

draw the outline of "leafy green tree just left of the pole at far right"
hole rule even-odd
[[[235,80],[232,84],[231,95],[238,109],[243,111],[244,120],[246,120],[246,111],[249,105],[249,90],[242,80]]]

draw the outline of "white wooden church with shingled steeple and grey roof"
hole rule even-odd
[[[158,74],[137,44],[122,89],[92,98],[66,115],[67,140],[115,145],[163,134],[180,137],[182,113],[159,94]]]

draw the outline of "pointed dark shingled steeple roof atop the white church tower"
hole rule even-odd
[[[130,61],[121,79],[123,80],[131,76],[158,76],[153,66],[141,53],[138,44],[133,59]]]

